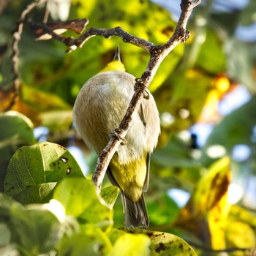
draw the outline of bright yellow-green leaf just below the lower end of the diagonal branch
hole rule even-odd
[[[106,206],[85,178],[64,179],[58,184],[53,198],[66,208],[66,214],[76,217],[81,225],[93,223],[102,229],[113,224],[113,211]]]

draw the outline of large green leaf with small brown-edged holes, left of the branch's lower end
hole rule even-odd
[[[83,173],[66,148],[48,142],[23,146],[10,161],[4,192],[22,203],[45,202],[56,182],[78,176]]]

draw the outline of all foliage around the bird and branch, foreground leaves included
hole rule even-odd
[[[189,39],[162,61],[148,87],[162,130],[151,156],[148,230],[124,228],[118,188],[108,178],[97,196],[90,181],[97,155],[75,132],[72,106],[117,45],[137,78],[149,53],[115,36],[92,37],[70,53],[59,40],[36,40],[33,24],[47,16],[45,4],[29,10],[17,41],[12,31],[31,3],[0,4],[0,254],[253,255],[255,1],[202,1],[189,18]],[[48,22],[120,26],[164,45],[180,2],[160,4],[72,0],[64,15],[50,1]],[[64,36],[79,37],[74,27]],[[89,170],[78,164],[74,147]]]

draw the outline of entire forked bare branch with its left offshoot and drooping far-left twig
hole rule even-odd
[[[48,0],[39,0],[36,4],[31,4],[26,10],[23,11],[20,16],[20,23],[18,25],[17,33],[14,34],[14,43],[13,43],[13,69],[15,72],[15,83],[14,88],[16,91],[16,95],[18,95],[19,90],[19,76],[18,76],[18,42],[20,39],[20,34],[23,28],[23,23],[25,21],[26,15],[30,12],[35,6],[39,3],[46,2]],[[127,108],[127,113],[125,114],[123,120],[119,127],[113,132],[112,138],[108,145],[99,153],[99,157],[97,160],[97,167],[94,171],[94,175],[92,177],[92,181],[97,187],[97,192],[100,192],[102,181],[105,176],[105,172],[108,168],[110,160],[113,157],[113,154],[120,146],[121,141],[124,139],[125,135],[127,135],[127,131],[129,127],[131,127],[132,120],[135,116],[136,111],[140,107],[141,99],[143,98],[144,90],[151,83],[151,80],[154,78],[155,73],[159,65],[162,63],[163,59],[170,53],[173,48],[176,47],[181,42],[185,42],[189,38],[189,31],[187,31],[186,26],[191,15],[192,11],[198,4],[200,4],[201,0],[181,0],[181,15],[178,20],[176,29],[173,33],[173,36],[165,43],[165,45],[154,45],[152,42],[148,42],[146,39],[141,39],[139,37],[135,37],[127,31],[121,29],[121,27],[116,27],[113,29],[96,29],[91,28],[88,29],[85,33],[81,34],[78,38],[73,37],[64,37],[61,34],[57,34],[54,29],[52,29],[47,23],[36,24],[39,27],[42,34],[50,34],[53,39],[57,39],[67,45],[67,53],[70,53],[72,50],[76,48],[81,48],[83,45],[91,39],[91,37],[102,36],[105,38],[110,38],[112,36],[121,37],[124,42],[131,43],[132,45],[136,45],[150,53],[150,60],[148,61],[148,66],[146,67],[145,72],[141,75],[140,78],[137,78],[135,82],[135,94],[133,95],[131,102],[129,103],[129,107]],[[33,20],[26,18],[28,23],[31,25],[35,25]],[[88,20],[83,19],[83,24],[86,26]],[[59,24],[61,25],[61,24]],[[67,24],[66,24],[67,25]],[[62,26],[62,25],[61,25]],[[15,98],[14,98],[15,100]],[[13,104],[13,102],[12,102]],[[12,106],[12,104],[10,106]]]

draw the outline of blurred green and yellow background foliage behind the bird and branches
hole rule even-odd
[[[162,45],[176,27],[180,2],[154,2],[73,0],[64,9],[49,5],[49,19],[89,18],[88,27],[121,26]],[[12,99],[11,31],[30,3],[0,4],[1,111]],[[44,6],[29,13],[35,22],[44,15]],[[189,19],[191,37],[167,56],[149,87],[162,124],[146,194],[150,228],[178,234],[198,255],[225,249],[245,255],[236,249],[256,246],[255,20],[254,0],[202,1]],[[71,31],[65,35],[78,37]],[[116,45],[127,72],[140,77],[148,53],[117,37],[94,37],[67,54],[61,42],[36,41],[25,25],[16,113],[0,116],[1,190],[12,155],[36,140],[69,148],[91,177],[97,157],[75,134],[72,105],[83,83],[113,58]],[[123,225],[120,200],[114,221],[115,227]]]

